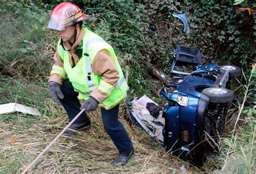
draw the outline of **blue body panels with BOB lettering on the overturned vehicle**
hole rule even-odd
[[[209,102],[208,97],[202,95],[200,90],[214,85],[215,81],[211,79],[186,76],[170,94],[169,102],[171,103],[176,101],[179,95],[188,97],[187,107],[170,106],[164,112],[165,146],[171,154],[179,155],[188,161],[196,158],[195,151],[199,148],[199,146],[195,147],[198,144],[196,140],[200,134],[203,134],[203,128],[199,130],[198,126],[204,122],[203,114]],[[180,137],[182,138],[180,139]]]

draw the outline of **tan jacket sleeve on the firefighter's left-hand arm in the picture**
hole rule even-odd
[[[57,66],[57,67],[63,68],[63,60],[59,56],[58,52],[56,52],[55,55],[53,56],[53,60],[55,61],[53,66]],[[58,74],[55,74],[55,73],[51,73],[48,82],[57,82],[57,83],[59,83],[61,85],[62,81],[63,81],[63,77],[62,76],[60,76]]]

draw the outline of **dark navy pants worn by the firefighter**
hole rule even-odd
[[[78,92],[74,91],[71,82],[69,79],[66,79],[62,86],[61,90],[63,95],[65,96],[64,99],[59,99],[60,103],[62,103],[63,107],[65,108],[66,112],[69,115],[69,120],[71,121],[76,115],[80,112],[80,103],[78,101]],[[122,123],[118,120],[118,111],[119,105],[111,108],[111,110],[105,110],[105,108],[100,108],[102,112],[102,120],[104,129],[107,134],[111,137],[112,141],[116,145],[119,154],[126,154],[131,151],[133,148],[132,141],[130,140],[129,136],[127,135]],[[75,121],[83,122],[89,119],[84,112],[81,114],[78,119]]]

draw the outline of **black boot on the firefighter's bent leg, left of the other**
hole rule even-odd
[[[83,122],[77,122],[77,123],[73,123],[72,125],[70,125],[70,127],[68,129],[66,129],[66,131],[63,133],[63,135],[66,136],[70,136],[70,135],[75,135],[77,132],[76,131],[86,131],[88,129],[90,129],[91,126],[91,121],[90,119],[88,119],[87,121],[83,121]],[[73,131],[75,130],[75,131]]]

